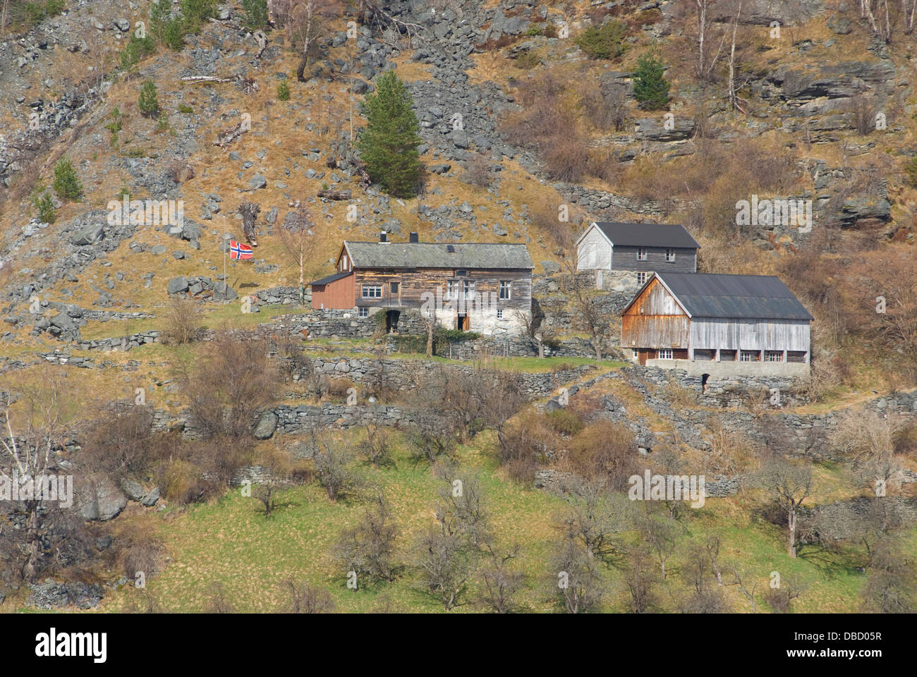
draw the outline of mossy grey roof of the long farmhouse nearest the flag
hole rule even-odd
[[[354,268],[528,269],[524,244],[503,242],[355,242],[345,240]]]

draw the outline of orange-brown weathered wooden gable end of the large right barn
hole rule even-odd
[[[643,312],[641,313],[641,309]],[[653,280],[621,317],[621,347],[690,348],[688,316],[668,290]],[[654,356],[650,356],[652,360]]]

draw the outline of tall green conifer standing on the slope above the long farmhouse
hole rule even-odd
[[[357,142],[361,159],[370,179],[395,197],[411,197],[420,181],[420,126],[412,105],[414,98],[404,83],[389,71],[381,75],[376,94],[367,96],[362,107],[367,126]]]

